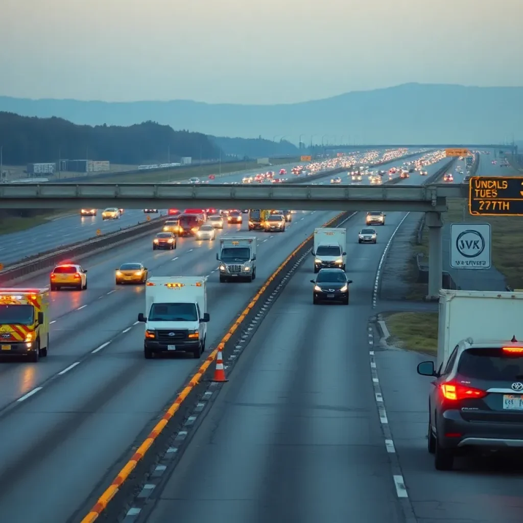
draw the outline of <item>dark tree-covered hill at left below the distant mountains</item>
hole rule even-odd
[[[219,146],[207,135],[147,121],[130,127],[80,126],[62,118],[36,118],[0,112],[4,165],[62,160],[109,160],[142,165],[219,158]]]

